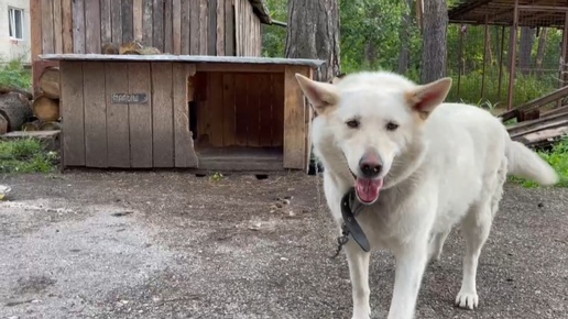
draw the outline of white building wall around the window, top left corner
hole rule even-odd
[[[23,40],[10,38],[8,9],[23,10]],[[30,1],[29,0],[0,0],[0,62],[22,58],[30,63],[31,36],[30,36]]]

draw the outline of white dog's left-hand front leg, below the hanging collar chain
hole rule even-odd
[[[371,306],[369,305],[370,253],[364,252],[353,240],[349,240],[346,244],[346,255],[353,290],[352,319],[369,319],[371,316]]]

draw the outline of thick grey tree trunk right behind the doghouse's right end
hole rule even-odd
[[[340,73],[338,0],[288,0],[286,57],[326,61],[317,80]]]

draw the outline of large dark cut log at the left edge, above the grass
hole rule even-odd
[[[33,116],[30,100],[18,92],[0,95],[0,116],[8,121],[8,132],[20,130]]]

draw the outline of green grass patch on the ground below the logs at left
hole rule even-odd
[[[58,160],[35,139],[0,142],[0,173],[52,173]]]

